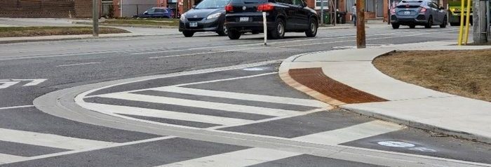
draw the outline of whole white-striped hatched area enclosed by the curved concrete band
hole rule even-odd
[[[139,102],[140,104],[163,105],[163,107],[166,107],[166,105],[189,107],[189,109],[195,111],[191,113],[163,107],[147,108],[136,105],[114,105],[108,104],[108,102],[97,102],[97,98],[116,101],[123,100],[121,101],[122,104],[125,102]],[[182,121],[210,125],[206,126],[206,128],[245,125],[264,119],[298,116],[315,109],[321,111],[329,107],[329,105],[317,100],[211,91],[184,86],[163,86],[135,91],[105,93],[86,96],[83,99],[83,102],[78,102],[78,105],[112,116],[166,124],[168,126],[186,126]],[[300,110],[295,109],[299,107]],[[217,114],[206,112],[207,109],[213,112],[221,112],[222,114],[217,116]],[[235,116],[230,117],[231,115]],[[159,121],[152,121],[154,119],[159,119]],[[187,127],[199,128],[199,126]]]

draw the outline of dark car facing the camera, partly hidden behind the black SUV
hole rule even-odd
[[[217,32],[222,36],[228,34],[224,26],[225,9],[229,0],[203,0],[197,6],[181,15],[179,31],[186,37],[195,32]]]

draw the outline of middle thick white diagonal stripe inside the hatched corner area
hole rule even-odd
[[[167,97],[154,96],[154,95],[139,95],[133,93],[109,93],[109,94],[97,95],[97,96],[102,98],[115,98],[115,99],[133,100],[133,101],[140,101],[140,102],[156,102],[156,103],[164,103],[170,105],[183,105],[189,107],[218,109],[228,112],[243,112],[243,113],[250,113],[250,114],[263,114],[269,116],[287,116],[291,114],[300,113],[297,111],[292,111],[287,109],[271,109],[271,108],[254,107],[248,105],[234,105],[234,104],[227,104],[221,102],[206,102],[200,100],[167,98]]]

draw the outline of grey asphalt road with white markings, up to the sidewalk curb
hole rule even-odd
[[[275,60],[354,47],[355,34],[290,33],[267,46],[261,34],[212,33],[0,45],[0,166],[491,163],[490,145],[332,109],[278,78]],[[453,40],[457,29],[372,25],[367,34],[370,47]],[[33,106],[66,88],[91,111]]]

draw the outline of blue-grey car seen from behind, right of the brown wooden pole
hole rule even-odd
[[[394,29],[398,29],[401,25],[408,25],[410,28],[415,28],[417,25],[424,25],[425,28],[440,25],[445,28],[447,22],[447,11],[429,0],[401,1],[391,10],[391,25]]]

